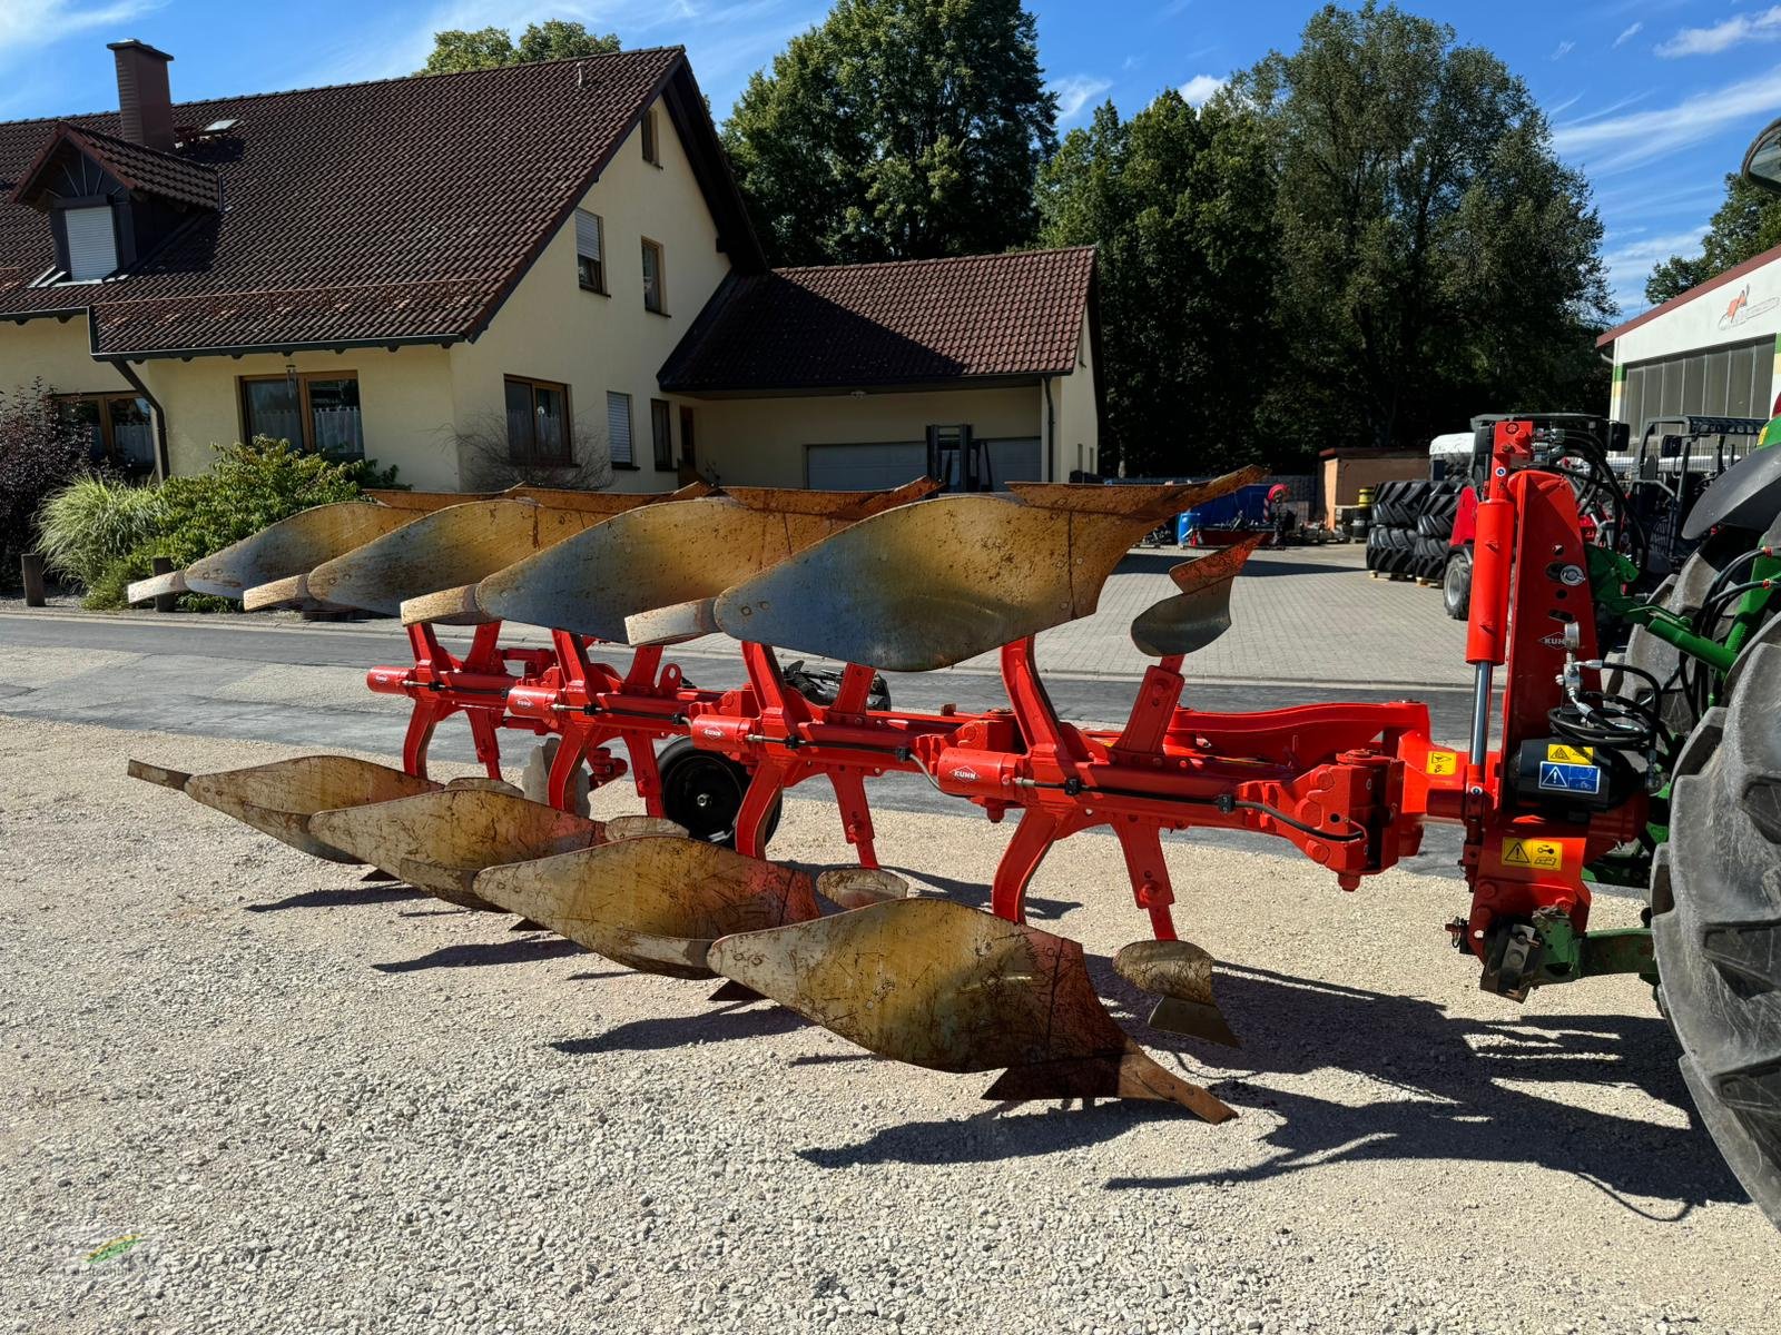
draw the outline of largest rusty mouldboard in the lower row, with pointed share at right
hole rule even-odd
[[[942,1072],[1010,1068],[992,1096],[1117,1093],[1231,1116],[1131,1043],[1081,945],[964,904],[901,899],[725,936],[707,963],[880,1056]]]

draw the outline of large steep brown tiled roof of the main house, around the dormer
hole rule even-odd
[[[673,46],[180,103],[182,126],[235,125],[153,158],[214,171],[223,212],[96,287],[28,287],[55,251],[43,214],[11,196],[59,123],[0,123],[0,319],[91,306],[100,356],[476,335],[657,94],[732,263],[759,271]],[[123,142],[114,112],[64,121],[105,151]],[[144,158],[119,157],[130,169]]]

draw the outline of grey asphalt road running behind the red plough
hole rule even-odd
[[[463,632],[442,634],[451,646]],[[0,612],[0,714],[94,723],[194,737],[281,742],[326,749],[401,753],[406,705],[372,696],[363,673],[376,664],[408,662],[408,641],[394,621],[272,623],[230,616],[84,616],[73,612]],[[741,685],[736,655],[677,653],[691,682]],[[265,684],[271,682],[271,689]],[[933,710],[1006,703],[1001,680],[981,671],[890,673],[892,701]],[[262,684],[262,689],[255,689]],[[1117,726],[1136,691],[1129,676],[1045,678],[1061,717]],[[1183,703],[1208,712],[1270,710],[1314,701],[1389,701],[1416,698],[1430,710],[1435,740],[1462,742],[1471,717],[1469,692],[1452,685],[1409,689],[1345,687],[1304,682],[1190,680]],[[447,721],[433,742],[438,760],[474,760],[468,730]],[[524,751],[515,749],[518,762]],[[169,758],[176,764],[176,758]],[[798,796],[823,799],[817,785]],[[873,805],[907,812],[953,812],[960,803],[917,776],[890,774],[869,789]],[[1211,838],[1211,837],[1200,837]],[[1222,846],[1282,851],[1265,837],[1218,835]],[[1297,856],[1297,854],[1295,854]],[[1457,829],[1434,826],[1416,860],[1418,870],[1455,874]]]

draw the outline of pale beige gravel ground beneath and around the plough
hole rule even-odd
[[[292,753],[0,717],[0,1330],[1781,1330],[1647,991],[1478,993],[1450,879],[1170,844],[1231,1052],[1131,1016],[1117,846],[1060,846],[1035,920],[1241,1116],[1010,1109],[123,776]],[[967,897],[1006,837],[878,828]]]

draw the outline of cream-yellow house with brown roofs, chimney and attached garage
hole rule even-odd
[[[0,388],[192,473],[255,434],[419,488],[1097,466],[1092,249],[771,271],[680,48],[0,125]]]

